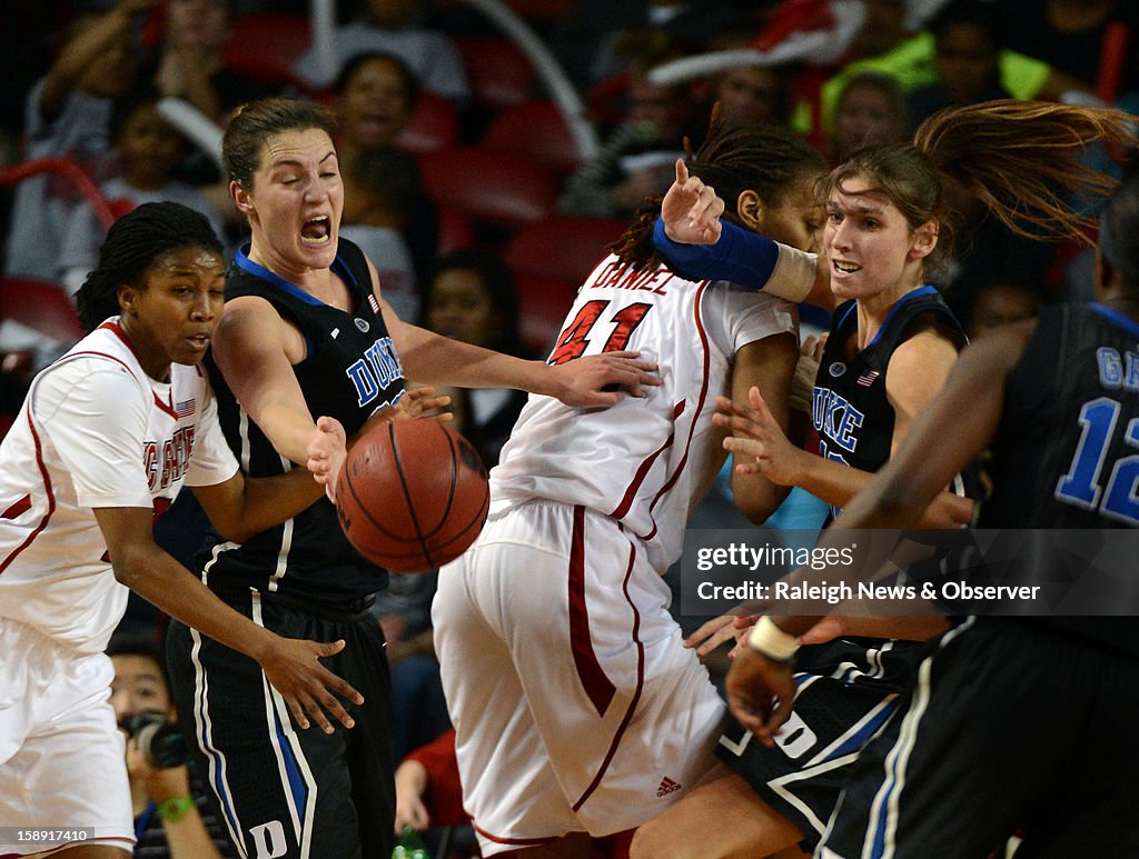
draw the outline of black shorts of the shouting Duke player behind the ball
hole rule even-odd
[[[167,659],[191,765],[213,790],[241,856],[357,859],[392,854],[395,819],[391,677],[379,623],[367,611],[322,616],[272,595],[227,600],[287,638],[346,646],[322,660],[364,696],[355,719],[300,729],[254,660],[171,623]],[[311,721],[311,720],[310,720]]]

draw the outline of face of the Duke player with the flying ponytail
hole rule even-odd
[[[830,290],[839,300],[896,298],[920,286],[920,265],[911,265],[918,259],[916,242],[906,215],[865,176],[831,191],[822,250],[830,266]]]

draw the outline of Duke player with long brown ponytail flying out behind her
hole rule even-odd
[[[1122,127],[1118,114],[1025,102],[972,106],[931,119],[918,130],[915,143],[863,149],[835,168],[821,184],[827,195],[822,248],[831,291],[845,302],[834,314],[814,383],[813,421],[822,455],[790,445],[767,413],[764,397],[755,396],[752,408],[723,400],[720,426],[748,437],[726,441],[743,463],[738,468],[802,486],[836,511],[845,505],[903,441],[964,342],[940,296],[923,286],[927,266],[952,246],[954,215],[942,189],[950,183],[974,189],[995,214],[1014,223],[1016,214],[1002,199],[1025,201],[1030,215],[1042,213],[1041,224],[1074,231],[1077,223],[1071,212],[1055,215],[1062,203],[1052,188],[1080,187],[1088,176],[1060,157],[1063,144],[1071,155],[1072,146],[1105,130],[1118,137]],[[1013,141],[1016,148],[1009,146]],[[1026,152],[1023,141],[1035,141],[1038,148]],[[689,196],[695,193],[689,190]],[[706,197],[702,205],[710,205]],[[682,220],[672,226],[700,239]],[[718,229],[702,224],[700,230],[708,226]],[[1025,226],[1017,223],[1016,229]],[[682,256],[686,270],[712,276],[747,264],[754,267],[771,253],[761,237],[727,224],[723,230],[737,237],[734,246],[743,258],[713,259],[702,248],[677,245],[667,246],[667,253]],[[661,233],[658,226],[658,238]],[[808,286],[804,282],[803,289]],[[924,511],[921,525],[965,525],[970,513],[970,503],[943,492]],[[735,773],[638,833],[642,856],[662,844],[675,857],[699,854],[708,840],[690,835],[693,823],[718,807],[735,809],[748,820],[712,836],[726,852],[759,843],[780,846],[769,837],[778,827],[764,817],[764,808],[748,811],[755,804],[748,786],[763,807],[794,821],[805,843],[813,845],[859,749],[892,718],[898,694],[912,684],[926,644],[901,639],[920,639],[943,628],[940,618],[852,619],[841,639],[804,649],[795,729],[776,748],[764,749],[740,726],[730,725],[718,752]]]

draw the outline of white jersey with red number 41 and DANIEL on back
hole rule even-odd
[[[491,471],[491,512],[532,498],[592,507],[645,539],[663,572],[723,462],[712,414],[735,354],[797,324],[779,298],[664,267],[638,272],[611,255],[579,291],[549,362],[629,349],[659,365],[663,385],[589,411],[532,395]]]

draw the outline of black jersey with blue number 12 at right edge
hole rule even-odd
[[[1139,324],[1044,308],[1005,386],[981,528],[1139,526]]]

